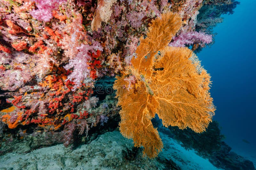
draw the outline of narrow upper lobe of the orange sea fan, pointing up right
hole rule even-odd
[[[152,73],[153,59],[159,50],[164,48],[179,31],[182,21],[179,15],[167,12],[151,22],[147,38],[140,38],[140,45],[136,49],[137,58],[131,62],[135,69],[144,76]]]

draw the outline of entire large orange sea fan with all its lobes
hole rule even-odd
[[[166,47],[179,30],[181,19],[173,13],[157,18],[146,39],[140,39],[132,59],[132,68],[114,84],[120,111],[120,131],[133,138],[134,146],[143,146],[144,155],[154,158],[163,143],[151,119],[158,114],[163,125],[191,128],[202,132],[212,121],[214,106],[209,93],[210,76],[188,48]],[[136,83],[128,89],[126,77]]]

